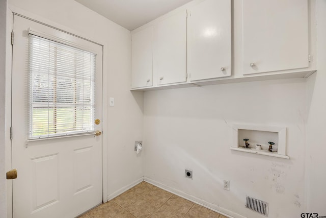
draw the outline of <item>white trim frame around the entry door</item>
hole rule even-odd
[[[6,149],[6,171],[9,171],[12,169],[12,141],[10,139],[10,131],[9,128],[12,125],[12,45],[11,45],[11,32],[13,31],[14,23],[13,23],[13,17],[14,15],[23,17],[25,19],[29,19],[32,21],[35,21],[37,23],[40,23],[41,25],[45,25],[47,27],[56,29],[58,31],[62,31],[64,33],[70,34],[72,36],[78,37],[80,39],[87,40],[89,42],[95,43],[97,45],[102,46],[102,120],[107,120],[107,107],[105,107],[108,102],[107,102],[107,88],[104,81],[107,81],[107,76],[104,75],[104,45],[101,43],[98,43],[94,40],[82,37],[81,34],[78,33],[77,31],[59,25],[56,22],[47,20],[45,18],[42,18],[40,16],[37,16],[33,13],[26,12],[22,9],[16,8],[14,6],[8,5],[7,9],[7,30],[6,30],[6,43],[7,43],[7,48],[6,48],[6,109],[5,109],[5,114],[6,114],[6,137],[5,137],[5,149]],[[108,195],[108,190],[107,190],[107,122],[102,123],[102,201],[105,203],[107,202],[107,195]],[[7,180],[7,218],[12,218],[13,217],[13,192],[12,192],[12,180]]]

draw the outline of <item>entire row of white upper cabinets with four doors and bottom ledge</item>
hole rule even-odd
[[[131,32],[131,89],[307,78],[314,11],[309,0],[191,1]]]

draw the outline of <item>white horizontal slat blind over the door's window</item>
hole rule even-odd
[[[96,55],[30,34],[29,139],[94,131]]]

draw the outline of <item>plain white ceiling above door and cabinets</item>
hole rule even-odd
[[[192,0],[75,0],[128,29],[136,29]]]

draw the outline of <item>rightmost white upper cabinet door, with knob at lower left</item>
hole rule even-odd
[[[244,0],[243,74],[308,66],[308,1]]]

